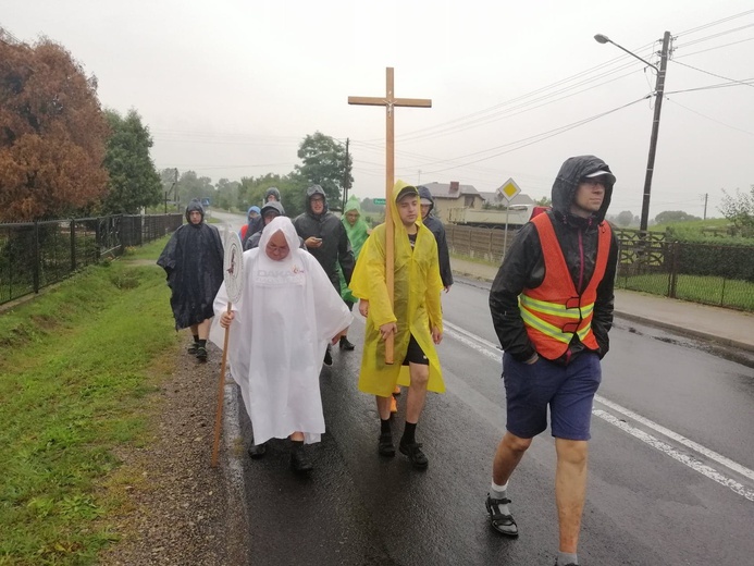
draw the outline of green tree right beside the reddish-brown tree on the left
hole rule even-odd
[[[102,210],[135,214],[141,207],[154,206],[163,198],[160,175],[149,157],[152,137],[135,110],[129,110],[125,118],[114,110],[104,114],[110,124],[104,156],[110,183]]]

